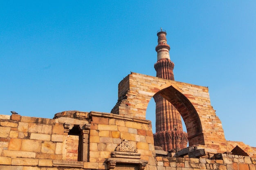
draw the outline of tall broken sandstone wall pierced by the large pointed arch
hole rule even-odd
[[[138,73],[131,73],[119,85],[119,93],[122,93],[119,96],[125,97],[117,102],[112,113],[145,119],[151,97],[161,94],[180,112],[186,124],[190,146],[202,144],[226,151],[222,124],[211,106],[207,87]]]

